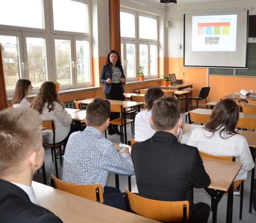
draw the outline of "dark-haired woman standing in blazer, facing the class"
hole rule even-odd
[[[100,83],[104,84],[103,93],[106,99],[124,100],[125,75],[121,65],[120,56],[116,50],[111,50],[106,58],[106,65],[102,66],[100,74]],[[119,117],[118,112],[110,114],[110,120]],[[109,135],[120,135],[118,126],[109,125]]]

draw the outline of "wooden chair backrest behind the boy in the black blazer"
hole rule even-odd
[[[128,211],[161,222],[187,222],[189,219],[188,201],[156,201],[143,198],[125,189],[125,202]]]

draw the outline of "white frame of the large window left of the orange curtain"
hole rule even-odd
[[[27,37],[42,37],[45,38],[45,62],[46,62],[46,80],[53,81],[55,72],[55,47],[53,47],[54,39],[52,37],[58,38],[67,38],[70,39],[70,47],[71,47],[71,61],[74,61],[74,50],[76,49],[74,44],[76,40],[87,40],[89,41],[89,79],[88,83],[77,83],[76,71],[73,67],[70,66],[71,69],[71,84],[65,84],[60,86],[60,90],[71,89],[71,88],[82,88],[93,86],[93,77],[92,77],[92,44],[91,44],[91,1],[90,0],[77,0],[88,5],[87,13],[88,13],[88,29],[89,33],[73,33],[73,32],[65,32],[65,31],[54,31],[53,29],[53,9],[52,9],[52,0],[42,0],[43,7],[43,29],[36,28],[26,28],[26,27],[13,27],[8,25],[0,25],[0,35],[13,35],[18,37],[18,59],[19,59],[19,73],[20,78],[28,78],[28,71],[23,69],[26,65],[27,60],[27,52],[25,45],[25,36]],[[59,34],[57,34],[59,33]],[[25,55],[25,56],[24,56]],[[72,65],[72,63],[71,63]],[[58,81],[58,80],[57,80]],[[39,88],[33,89],[34,93],[38,93]],[[11,97],[14,94],[14,90],[6,91],[7,96]]]

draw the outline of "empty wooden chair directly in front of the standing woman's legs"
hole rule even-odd
[[[126,131],[126,126],[127,124],[131,123],[131,127],[134,127],[134,119],[128,119],[126,118],[125,114],[125,108],[123,108],[122,104],[112,104],[110,107],[111,112],[119,112],[121,116],[119,118],[116,118],[114,120],[109,121],[109,124],[112,125],[118,125],[120,127],[120,141],[122,143],[127,144],[127,131]],[[107,138],[107,133],[105,131],[105,137]]]

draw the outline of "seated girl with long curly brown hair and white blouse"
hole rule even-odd
[[[33,100],[32,108],[41,114],[43,121],[54,119],[56,126],[55,143],[63,142],[65,148],[68,137],[73,132],[70,128],[73,120],[64,109],[53,82],[45,81],[41,85],[39,93]],[[43,130],[42,136],[43,142],[52,143],[52,130]]]

